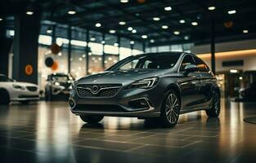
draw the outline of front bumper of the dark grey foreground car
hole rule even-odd
[[[159,117],[164,89],[150,90],[121,88],[110,98],[81,98],[70,91],[70,109],[76,115],[96,114],[116,117]],[[145,107],[141,107],[141,104]],[[139,106],[139,107],[137,107]]]

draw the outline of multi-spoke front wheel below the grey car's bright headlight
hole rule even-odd
[[[174,90],[169,90],[164,97],[159,117],[160,125],[174,127],[177,124],[180,114],[181,99]]]

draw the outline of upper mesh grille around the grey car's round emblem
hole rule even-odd
[[[98,91],[93,93],[92,87],[97,86]],[[120,84],[80,84],[77,86],[77,93],[80,97],[113,97],[115,96],[122,85]]]

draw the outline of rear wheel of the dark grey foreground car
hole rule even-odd
[[[208,117],[218,117],[221,105],[220,105],[220,95],[217,92],[213,94],[213,106],[212,108],[205,110]]]

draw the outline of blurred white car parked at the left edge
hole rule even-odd
[[[14,81],[0,74],[0,104],[9,104],[11,101],[20,101],[29,104],[39,99],[38,86],[29,82]]]

